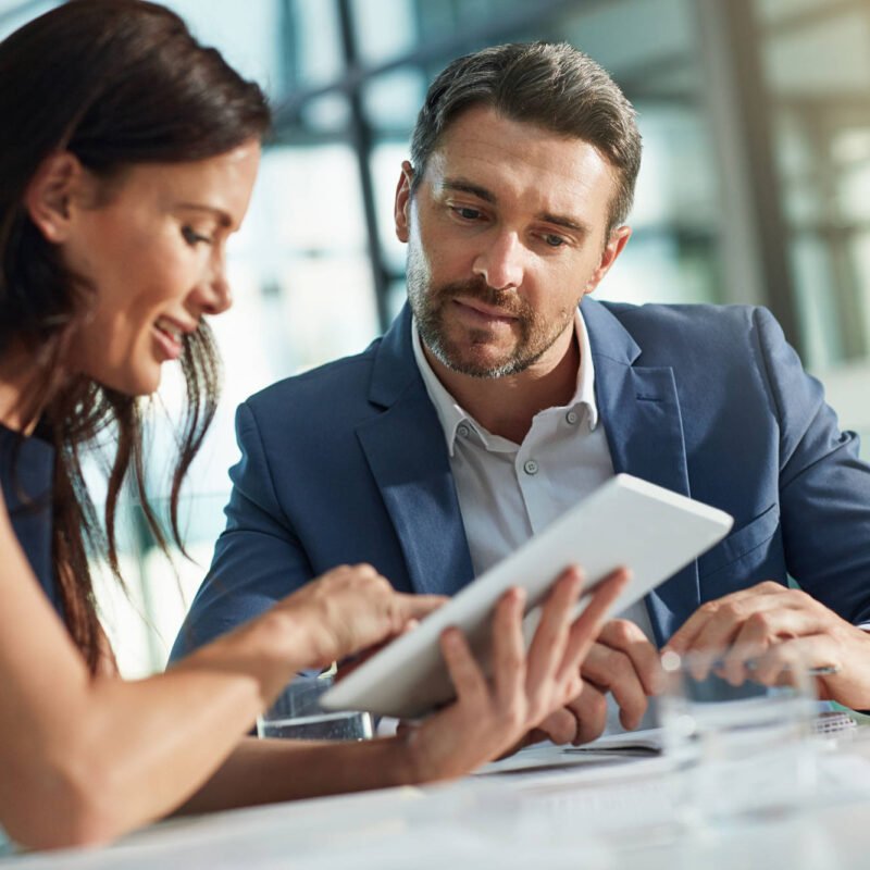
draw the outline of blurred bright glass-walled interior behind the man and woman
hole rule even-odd
[[[57,5],[0,0],[0,38]],[[363,349],[405,297],[393,192],[432,77],[486,45],[568,40],[639,113],[634,235],[597,290],[631,302],[768,306],[870,458],[870,0],[171,0],[276,110],[214,328],[221,409],[184,490],[191,560],[123,506],[120,593],[100,600],[122,670],[161,669],[223,527],[235,407]],[[163,504],[179,390],[156,401]],[[99,497],[99,478],[95,475]]]

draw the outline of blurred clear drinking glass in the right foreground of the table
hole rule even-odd
[[[767,686],[754,679],[762,658],[730,655],[743,667],[705,652],[662,658],[662,742],[686,821],[780,815],[806,805],[816,788],[809,669],[792,661]]]

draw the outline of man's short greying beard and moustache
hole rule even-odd
[[[573,309],[569,309],[559,312],[558,322],[547,321],[515,293],[496,290],[483,277],[433,287],[427,270],[412,253],[408,257],[407,284],[408,301],[423,344],[438,362],[471,377],[506,377],[525,371],[552,347],[573,318]],[[475,345],[483,347],[492,340],[489,330],[468,332],[462,345],[449,337],[448,312],[457,296],[475,299],[517,319],[519,336],[505,359],[481,360],[474,352]]]

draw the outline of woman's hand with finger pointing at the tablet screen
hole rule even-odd
[[[447,600],[396,592],[370,564],[339,566],[306,584],[275,610],[298,622],[307,657],[322,668],[395,637]]]

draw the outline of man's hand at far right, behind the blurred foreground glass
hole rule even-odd
[[[668,650],[721,650],[724,676],[734,683],[750,675],[774,685],[797,664],[823,668],[831,673],[817,676],[820,698],[870,708],[870,635],[805,592],[772,581],[703,605],[662,651]]]

